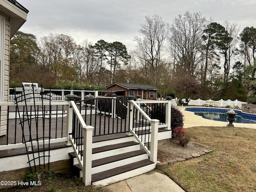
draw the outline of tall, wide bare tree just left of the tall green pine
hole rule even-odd
[[[200,63],[203,30],[208,21],[200,12],[178,15],[170,27],[169,49],[174,57],[175,70],[194,75]]]

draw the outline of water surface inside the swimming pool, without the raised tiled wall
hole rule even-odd
[[[225,113],[216,113],[216,112],[194,112],[195,115],[202,116],[203,118],[216,120],[216,121],[224,121],[228,122],[228,115]],[[239,115],[236,115],[235,123],[256,123],[256,120],[244,119]]]

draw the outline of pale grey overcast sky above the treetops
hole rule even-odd
[[[135,48],[145,16],[159,15],[172,24],[179,14],[201,12],[207,19],[223,24],[236,23],[241,30],[256,27],[256,0],[18,0],[29,10],[20,31],[38,40],[64,34],[77,44],[88,39],[93,44],[103,39],[122,42]]]

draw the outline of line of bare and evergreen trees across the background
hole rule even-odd
[[[58,80],[95,85],[150,84],[160,97],[255,99],[256,28],[206,19],[200,12],[178,15],[172,24],[146,16],[134,50],[122,42],[49,34],[36,39],[16,32],[10,42],[10,82]]]

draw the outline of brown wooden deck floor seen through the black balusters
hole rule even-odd
[[[51,120],[43,120],[42,118],[39,118],[38,122],[36,122],[35,119],[32,119],[31,121],[26,120],[23,125],[24,137],[26,141],[30,139],[30,130],[28,124],[31,125],[32,139],[37,137],[50,137],[51,139],[66,137],[66,120],[67,117],[51,118]],[[128,131],[124,119],[111,118],[108,115],[87,115],[85,122],[87,125],[91,125],[94,127],[94,136]],[[38,126],[36,126],[36,124],[38,124]],[[37,128],[38,131],[36,131]],[[22,142],[24,142],[24,139],[22,139],[22,126],[19,120],[10,119],[8,121],[7,134],[0,137],[0,145],[17,144]]]

